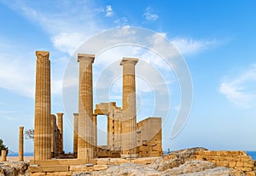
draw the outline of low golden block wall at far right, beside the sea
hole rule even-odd
[[[213,162],[218,167],[231,167],[243,172],[256,170],[254,161],[245,151],[201,150],[196,151],[195,156],[198,160]]]

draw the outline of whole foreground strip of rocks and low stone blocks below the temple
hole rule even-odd
[[[56,172],[55,166],[50,171],[34,171],[30,175],[61,176],[256,176],[255,162],[243,151],[210,151],[193,148],[172,151],[158,158],[138,158],[124,160],[120,158],[103,158],[96,165],[68,165],[65,172]],[[0,176],[25,176],[28,162],[0,162]],[[44,167],[44,165],[42,166]],[[66,168],[67,167],[67,168]],[[49,169],[49,168],[48,168]]]

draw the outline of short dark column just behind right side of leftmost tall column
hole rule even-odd
[[[52,114],[50,118],[51,157],[56,156],[56,128],[56,116]]]

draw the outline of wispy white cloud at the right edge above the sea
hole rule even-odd
[[[238,77],[224,81],[219,86],[219,92],[224,94],[232,104],[248,109],[253,107],[256,100],[256,65],[244,71]]]

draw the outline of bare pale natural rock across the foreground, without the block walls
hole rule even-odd
[[[255,176],[253,172],[246,173],[237,171],[230,167],[217,167],[215,163],[195,160],[195,152],[206,150],[194,148],[188,150],[177,150],[167,156],[163,156],[151,164],[124,163],[119,166],[108,166],[107,169],[93,172],[70,173],[73,176],[158,176],[158,175],[183,175],[183,176]],[[28,162],[0,162],[0,176],[27,176]],[[48,175],[49,173],[47,173]],[[58,175],[58,174],[55,174]]]

